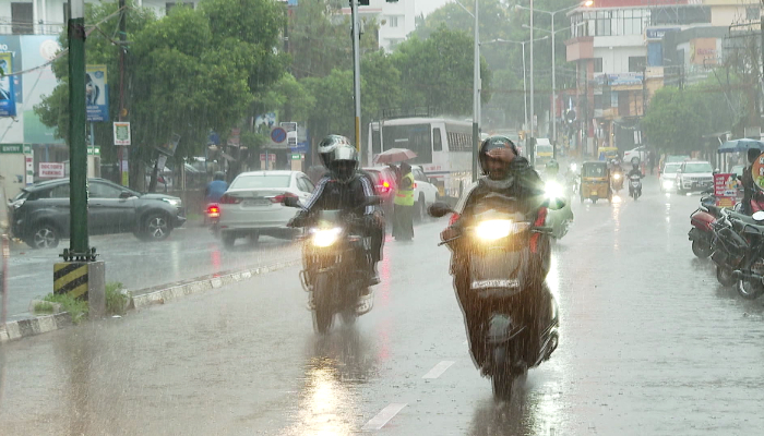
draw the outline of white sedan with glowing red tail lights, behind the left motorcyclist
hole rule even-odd
[[[313,183],[299,171],[242,172],[231,182],[219,201],[220,239],[226,247],[237,238],[261,234],[289,239],[295,234],[286,227],[297,209],[284,206],[284,198],[296,197],[305,203],[313,192]]]

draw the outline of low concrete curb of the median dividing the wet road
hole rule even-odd
[[[172,286],[150,288],[146,293],[130,296],[128,311],[151,307],[154,304],[165,304],[186,295],[201,293],[225,284],[236,283],[278,269],[301,265],[302,259],[279,262],[277,264],[227,271],[222,275],[203,276]],[[142,292],[144,290],[138,291]],[[69,313],[37,316],[35,318],[14,320],[0,325],[0,343],[32,336],[46,334],[74,325]]]

